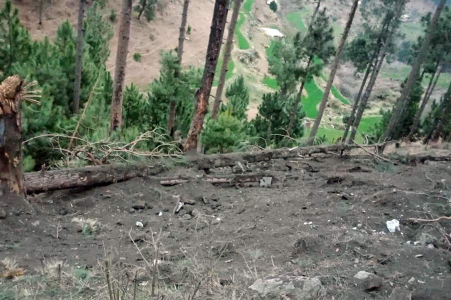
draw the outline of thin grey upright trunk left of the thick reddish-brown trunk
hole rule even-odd
[[[72,112],[78,113],[80,107],[80,88],[81,71],[83,65],[83,18],[85,17],[85,0],[80,0],[78,6],[78,24],[77,24],[77,50],[75,54],[75,81],[74,81],[74,100],[72,102]]]

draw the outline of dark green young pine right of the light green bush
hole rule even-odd
[[[289,111],[293,107],[293,98],[280,93],[267,93],[263,95],[263,101],[259,105],[257,117],[251,121],[251,136],[255,136],[254,142],[273,147],[285,145],[285,135],[290,122]],[[291,137],[300,138],[304,134],[302,118],[305,116],[302,107],[299,107],[296,116],[297,122],[291,131]]]

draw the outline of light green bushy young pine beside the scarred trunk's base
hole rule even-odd
[[[233,116],[229,107],[219,114],[217,120],[207,119],[201,142],[206,153],[227,153],[236,151],[240,142],[247,138],[244,122]]]

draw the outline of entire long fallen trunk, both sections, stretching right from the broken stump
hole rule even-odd
[[[378,145],[371,145],[374,147]],[[189,164],[198,169],[208,169],[236,165],[239,161],[259,162],[277,158],[290,158],[314,153],[344,151],[362,147],[355,144],[334,144],[294,149],[267,149],[251,152],[236,152],[214,155],[187,156]],[[25,186],[28,193],[38,193],[65,188],[91,187],[128,180],[134,177],[152,176],[167,169],[157,161],[153,164],[104,164],[73,169],[60,169],[46,172],[31,172],[25,174]]]

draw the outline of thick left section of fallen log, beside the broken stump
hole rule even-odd
[[[165,169],[167,167],[160,164],[118,163],[30,172],[25,173],[25,187],[29,194],[65,188],[90,187],[134,177],[157,175]]]

